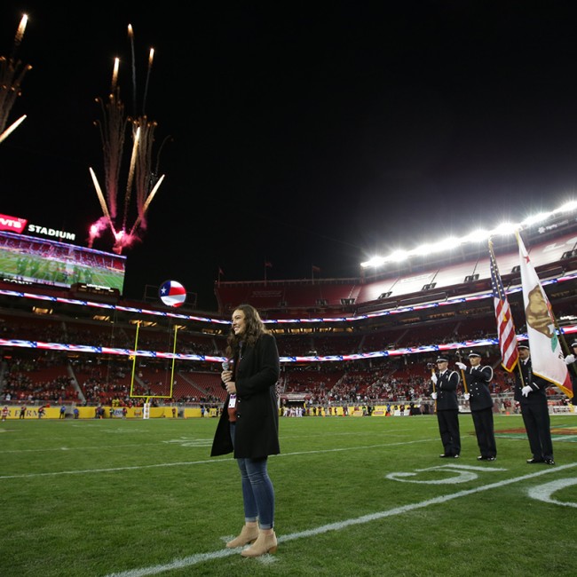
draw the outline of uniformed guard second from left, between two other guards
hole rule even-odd
[[[497,458],[497,445],[494,440],[493,397],[491,397],[491,381],[493,368],[481,366],[481,355],[478,352],[469,353],[470,367],[463,362],[456,365],[462,370],[465,387],[465,400],[469,400],[470,414],[475,425],[477,444],[481,454],[478,461],[494,461]]]

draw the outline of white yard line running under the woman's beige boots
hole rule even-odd
[[[413,503],[412,505],[403,505],[402,507],[396,507],[395,509],[380,511],[378,513],[371,513],[369,515],[362,515],[361,517],[347,519],[346,521],[339,521],[338,523],[329,523],[328,525],[322,525],[320,527],[316,527],[315,529],[308,529],[299,533],[281,535],[278,538],[278,541],[280,543],[286,541],[295,541],[296,539],[312,537],[315,535],[328,533],[329,531],[340,531],[341,529],[349,526],[363,525],[365,523],[369,523],[370,521],[392,517],[393,515],[400,515],[401,513],[407,513],[408,511],[412,510],[423,509],[424,507],[429,507],[429,505],[437,505],[447,501],[452,501],[453,499],[458,499],[460,497],[466,497],[470,494],[481,493],[482,491],[488,491],[490,489],[511,485],[519,481],[525,481],[526,479],[541,477],[542,475],[547,475],[554,471],[558,472],[560,470],[572,469],[573,467],[577,467],[577,462],[573,462],[567,465],[560,465],[551,469],[540,470],[536,473],[522,475],[521,477],[498,481],[497,483],[490,483],[489,485],[479,486],[475,489],[468,489],[465,491],[458,491],[457,493],[453,494],[441,495],[439,497],[434,497],[433,499],[427,499],[426,501]],[[123,571],[121,573],[108,573],[106,577],[144,577],[145,575],[157,575],[158,573],[164,573],[165,571],[183,569],[193,565],[198,565],[204,561],[230,557],[231,555],[238,555],[238,549],[219,549],[217,551],[213,551],[212,553],[199,553],[197,555],[175,559],[174,561],[171,561],[165,565],[152,565],[150,567],[141,567],[140,569]]]

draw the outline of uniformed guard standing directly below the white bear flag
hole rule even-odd
[[[515,375],[515,400],[521,407],[523,423],[533,457],[529,464],[554,465],[547,387],[549,381],[533,374],[531,352],[526,344],[518,345],[519,371]],[[520,375],[519,375],[520,373]]]

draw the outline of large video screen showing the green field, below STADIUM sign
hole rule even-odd
[[[75,283],[123,293],[126,257],[65,242],[0,232],[0,277],[70,288]]]

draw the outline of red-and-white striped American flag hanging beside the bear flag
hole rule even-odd
[[[517,366],[519,360],[515,323],[513,322],[505,289],[502,286],[492,241],[489,241],[489,253],[491,255],[491,288],[493,289],[494,316],[497,320],[497,334],[502,357],[501,364],[502,368],[511,372]]]

